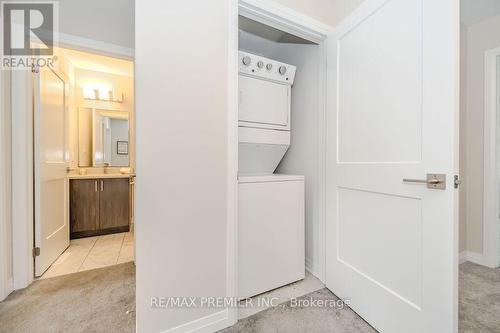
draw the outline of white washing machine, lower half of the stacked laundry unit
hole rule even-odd
[[[304,176],[240,177],[238,197],[239,295],[303,279]]]

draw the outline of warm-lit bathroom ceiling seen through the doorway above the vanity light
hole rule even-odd
[[[60,48],[60,51],[75,68],[121,76],[132,77],[134,75],[132,61],[63,48]]]

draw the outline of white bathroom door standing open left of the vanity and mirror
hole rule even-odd
[[[35,275],[69,246],[66,84],[51,69],[34,74]]]

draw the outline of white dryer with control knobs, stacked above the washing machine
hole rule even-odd
[[[295,66],[239,53],[239,173],[270,174],[290,146]]]

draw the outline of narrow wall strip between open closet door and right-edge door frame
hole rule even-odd
[[[500,16],[467,27],[465,122],[466,249],[483,253],[484,53],[500,46]],[[462,147],[462,152],[464,147]],[[463,168],[463,164],[461,164]]]

